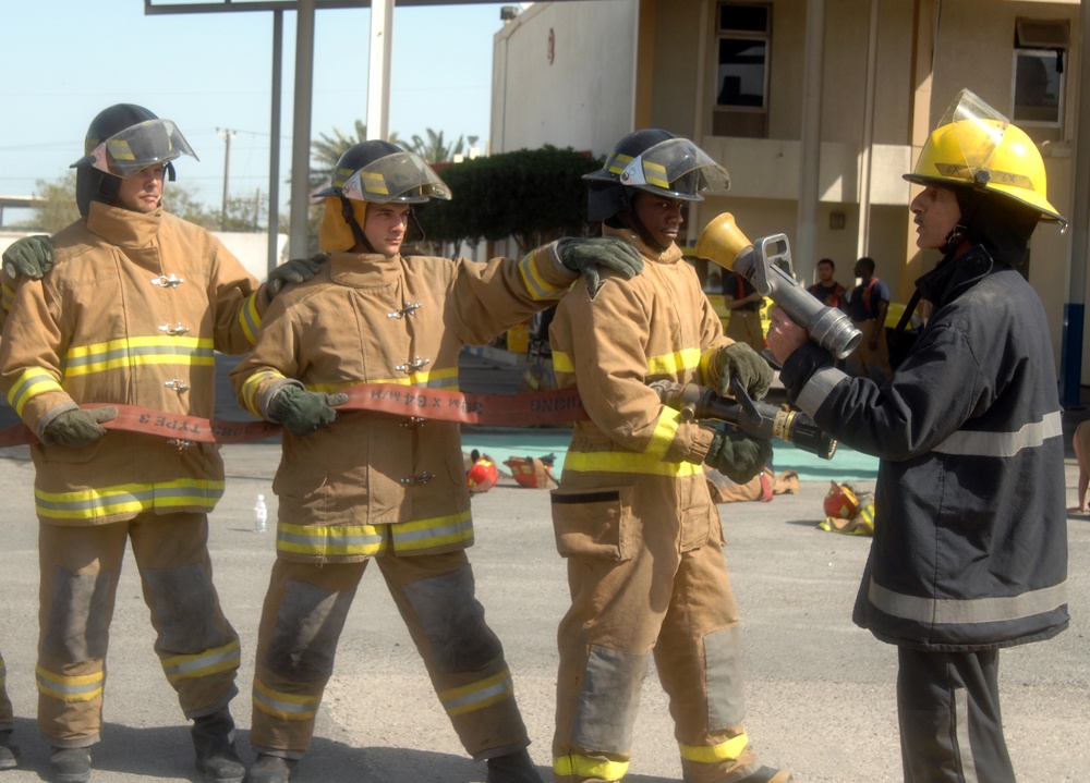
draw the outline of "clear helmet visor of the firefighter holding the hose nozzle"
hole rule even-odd
[[[645,150],[620,172],[620,184],[687,201],[704,191],[726,191],[730,175],[687,138],[670,138]]]

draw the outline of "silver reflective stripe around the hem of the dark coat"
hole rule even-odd
[[[1067,603],[1067,583],[1030,590],[1020,596],[937,599],[905,596],[871,579],[867,596],[877,609],[903,620],[928,625],[971,625],[1001,623],[1051,612]]]

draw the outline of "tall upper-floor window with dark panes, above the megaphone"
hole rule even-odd
[[[772,7],[720,2],[717,7],[716,136],[767,135]]]

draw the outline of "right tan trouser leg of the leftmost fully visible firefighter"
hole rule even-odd
[[[206,514],[142,514],[129,536],[155,652],[186,718],[223,709],[238,694],[239,636],[220,609],[211,579]]]

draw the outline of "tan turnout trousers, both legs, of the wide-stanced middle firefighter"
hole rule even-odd
[[[467,753],[485,759],[529,745],[504,649],[473,595],[465,552],[375,560]],[[278,558],[274,564],[254,673],[250,738],[258,753],[299,758],[310,746],[337,641],[367,562]]]

